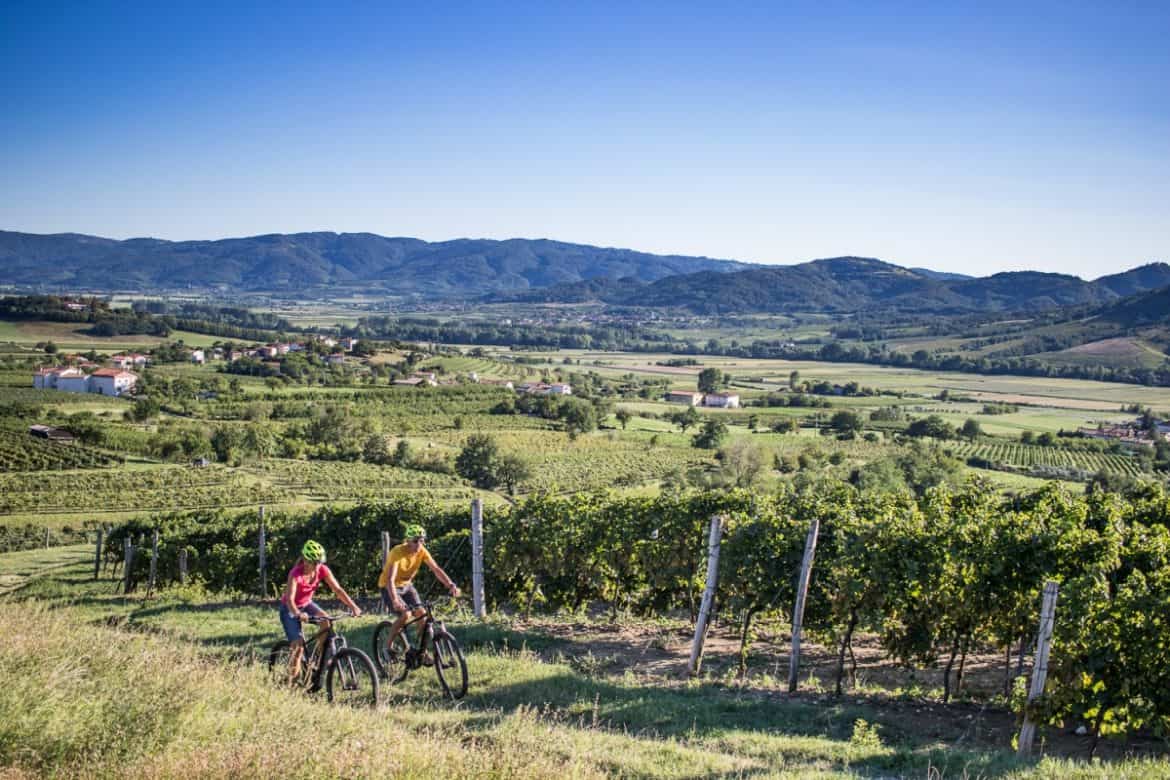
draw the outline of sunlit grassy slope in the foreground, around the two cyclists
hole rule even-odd
[[[0,555],[0,573],[16,566],[28,561]],[[22,615],[0,643],[0,767],[63,776],[1170,776],[1163,762],[1025,764],[1005,750],[916,737],[863,702],[589,676],[498,643],[470,653],[473,688],[457,707],[422,674],[381,711],[340,711],[270,689],[247,663],[276,639],[270,607],[194,588],[152,601],[109,591],[77,565],[0,601]],[[123,629],[108,627],[111,615]],[[351,643],[365,647],[373,620],[357,626]],[[502,626],[456,630],[508,635]],[[858,718],[896,743],[851,739]]]

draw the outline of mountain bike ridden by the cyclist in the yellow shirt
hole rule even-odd
[[[394,637],[394,643],[390,643],[390,633],[394,627],[394,621],[385,620],[378,623],[373,633],[373,657],[378,660],[381,674],[392,684],[400,683],[415,669],[431,664],[439,676],[439,684],[443,693],[453,699],[461,699],[467,693],[467,660],[463,658],[463,650],[443,621],[436,620],[433,612],[434,605],[424,601],[421,609],[424,613],[413,617],[402,626],[402,630]],[[421,622],[419,627],[419,644],[414,647],[407,637],[407,628]],[[431,655],[427,657],[428,646]]]

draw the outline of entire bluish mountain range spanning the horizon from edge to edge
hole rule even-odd
[[[543,239],[429,243],[370,233],[297,233],[172,242],[0,232],[0,284],[597,301],[703,313],[880,309],[962,313],[1108,305],[1170,285],[1170,265],[1150,263],[1087,282],[1038,271],[973,278],[870,257],[752,265]]]

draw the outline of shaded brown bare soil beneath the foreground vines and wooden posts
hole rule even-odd
[[[682,685],[694,631],[683,624],[626,624],[605,622],[564,622],[535,619],[517,620],[516,630],[558,640],[544,651],[549,660],[565,658],[578,670],[596,676],[635,675],[644,684]],[[748,674],[738,677],[739,637],[730,626],[714,627],[703,650],[703,676],[722,681],[728,692],[758,696],[762,700],[804,702],[832,706],[856,705],[872,711],[872,720],[893,740],[937,744],[944,747],[1010,750],[1019,732],[1014,713],[1003,705],[1004,663],[1002,653],[969,655],[962,689],[949,704],[941,700],[943,663],[930,669],[908,669],[889,661],[876,636],[861,635],[854,641],[855,684],[851,683],[851,662],[846,657],[845,695],[834,695],[837,649],[801,643],[800,685],[787,692],[791,635],[786,630],[760,630],[752,643]],[[945,660],[943,660],[945,662]],[[1012,674],[1017,669],[1012,658]],[[956,668],[958,662],[956,661]],[[1031,664],[1025,663],[1025,675]],[[954,690],[955,675],[951,675]],[[868,716],[867,716],[868,717]],[[1038,750],[1053,755],[1085,758],[1089,737],[1075,733],[1081,724],[1047,729],[1038,739]],[[1041,740],[1042,739],[1042,744]],[[1097,754],[1121,758],[1133,754],[1168,754],[1164,740],[1102,740]]]

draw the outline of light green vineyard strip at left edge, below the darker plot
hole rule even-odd
[[[0,515],[247,506],[290,493],[220,467],[0,475]],[[97,518],[95,518],[97,519]]]

